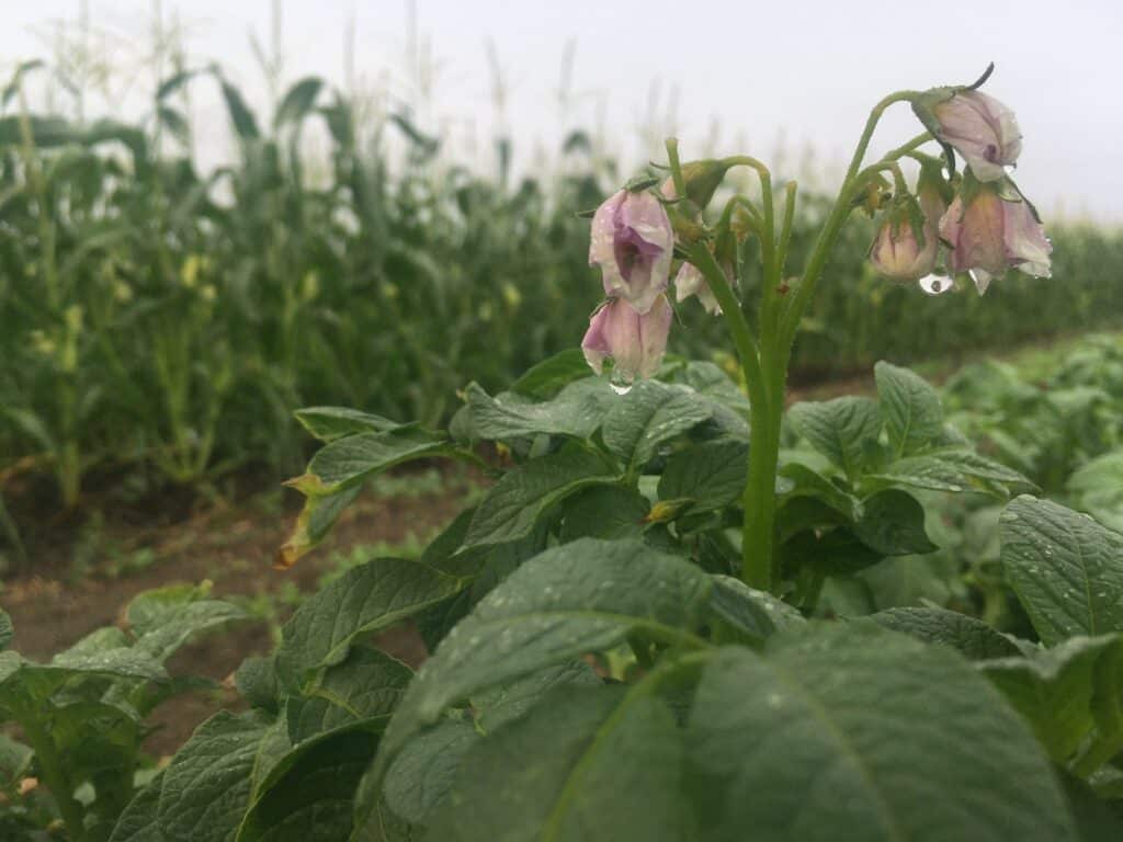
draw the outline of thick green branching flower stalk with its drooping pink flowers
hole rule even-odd
[[[883,195],[883,191],[889,189],[889,182],[882,173],[892,176],[893,204],[883,211],[882,226],[870,258],[883,275],[897,281],[919,281],[922,289],[935,290],[934,283],[925,286],[925,282],[934,278],[942,286],[942,274],[955,274],[967,268],[975,272],[976,281],[980,273],[998,273],[1007,267],[1016,267],[1039,276],[1048,274],[1049,244],[1037,214],[1029,201],[1021,196],[1016,186],[1004,175],[1004,167],[1014,163],[1021,149],[1021,132],[1013,112],[996,100],[977,92],[976,89],[983,81],[985,77],[974,85],[938,88],[925,92],[896,91],[874,106],[806,265],[791,281],[785,275],[796,213],[795,182],[784,185],[783,216],[777,230],[773,176],[761,162],[737,155],[684,165],[679,159],[678,141],[675,138],[666,141],[670,179],[663,185],[658,198],[670,210],[670,221],[664,227],[674,229],[677,239],[675,256],[685,258],[676,275],[677,300],[684,301],[696,295],[707,312],[720,314],[724,320],[737,349],[749,396],[749,464],[742,494],[745,515],[740,573],[742,580],[751,587],[773,593],[782,589],[775,528],[776,476],[787,369],[795,337],[850,212],[856,207],[865,205],[873,214],[885,204],[887,194]],[[867,165],[866,155],[874,131],[885,111],[898,102],[911,103],[928,130]],[[933,140],[942,146],[942,159],[919,152]],[[956,173],[957,153],[966,163],[962,176]],[[905,157],[915,158],[921,164],[916,195],[910,190],[898,163]],[[734,195],[725,203],[720,219],[711,229],[702,219],[702,211],[725,172],[734,166],[747,166],[756,172],[760,182],[759,208],[749,198]],[[944,168],[947,176],[943,175]],[[980,170],[982,175],[976,170]],[[982,193],[978,187],[980,180],[986,182]],[[959,195],[949,209],[948,202],[957,190]],[[983,200],[975,199],[979,195]],[[997,237],[989,239],[983,235],[974,236],[971,228],[975,226],[971,214],[983,213],[976,211],[975,205],[969,202],[984,200],[994,205],[985,209],[989,213],[987,218],[1002,221],[1002,225],[989,226],[998,231]],[[624,201],[636,207],[640,204],[639,199],[626,198],[622,191],[602,205],[602,210],[597,211],[599,218],[608,220],[609,210],[617,207],[613,202]],[[650,207],[649,198],[643,201],[648,202],[645,207]],[[740,218],[738,213],[741,214]],[[654,210],[643,211],[643,214],[648,218],[655,216]],[[639,218],[642,214],[637,212],[633,216]],[[965,229],[970,229],[968,235],[971,236],[959,237],[964,244],[970,245],[976,251],[983,248],[1001,253],[1003,259],[983,259],[967,254],[965,245],[953,248],[947,257],[946,265],[951,267],[950,271],[943,264],[938,265],[938,258],[943,254],[944,247],[949,246],[949,234],[958,236]],[[660,226],[648,226],[643,230],[658,231]],[[627,275],[630,269],[630,264],[622,264],[619,257],[613,265],[611,255],[622,253],[629,242],[627,237],[632,236],[631,231],[632,228],[619,222],[614,229],[610,230],[608,222],[602,223],[599,229],[594,220],[595,259],[591,262],[602,264],[605,291],[610,295],[627,298],[632,293],[632,290],[624,289],[621,283],[610,283],[621,271]],[[738,237],[748,236],[756,237],[760,244],[763,283],[759,302],[739,296],[737,291],[737,240]],[[645,237],[648,237],[648,242],[654,241],[651,235],[645,234]],[[986,241],[982,241],[984,239]],[[654,246],[640,245],[646,249],[643,254],[650,251],[655,255],[645,266],[657,265],[657,259],[669,264],[668,249],[660,251]],[[661,246],[661,241],[659,245]],[[615,250],[612,251],[612,248]],[[937,274],[932,274],[933,272]],[[660,271],[643,276],[643,283],[639,287],[648,290],[648,298],[652,292],[661,295],[666,282],[667,278]],[[639,303],[642,306],[648,302],[645,299]],[[622,304],[623,301],[615,303],[617,306]],[[750,322],[755,313],[757,323],[754,326]],[[606,321],[606,317],[601,318]],[[609,333],[605,332],[605,336]],[[638,368],[629,361],[628,356],[628,349],[637,344],[629,339],[617,341],[615,345],[620,346],[619,349],[605,346],[604,355],[624,361],[629,368]],[[586,356],[591,351],[595,351],[594,357],[601,353],[586,336]],[[658,353],[661,355],[661,346]],[[594,368],[599,367],[599,359],[591,359]],[[650,376],[652,373],[650,364],[638,370],[639,376]],[[810,583],[807,587],[814,592],[821,585],[821,582],[818,585]]]

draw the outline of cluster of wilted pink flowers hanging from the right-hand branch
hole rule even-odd
[[[1049,277],[1052,247],[1033,205],[1006,173],[1022,150],[1013,111],[971,88],[938,89],[926,100],[917,113],[967,170],[950,184],[922,168],[917,195],[898,196],[882,221],[870,247],[874,267],[895,281],[920,281],[931,293],[952,287],[939,274],[969,273],[979,293],[1011,268]],[[944,195],[952,191],[949,205]]]

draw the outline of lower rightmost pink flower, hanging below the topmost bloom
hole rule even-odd
[[[1008,268],[1049,277],[1052,245],[1033,207],[1021,193],[1003,199],[993,184],[973,193],[966,202],[956,196],[940,220],[940,236],[951,246],[949,268],[969,271],[980,294]]]

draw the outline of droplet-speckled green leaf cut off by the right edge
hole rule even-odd
[[[1046,646],[1123,632],[1123,536],[1026,495],[999,523],[1006,579]]]

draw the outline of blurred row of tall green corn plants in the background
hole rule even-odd
[[[246,463],[291,472],[301,405],[446,420],[469,379],[496,388],[576,346],[591,283],[587,222],[618,179],[573,134],[556,171],[515,181],[444,161],[405,119],[372,131],[304,79],[253,112],[221,73],[165,82],[138,125],[75,125],[26,107],[25,65],[0,116],[0,492],[51,474],[65,505],[91,469],[193,483]],[[201,173],[180,98],[218,85],[237,162]],[[325,130],[329,164],[302,137]],[[387,135],[409,143],[393,172]],[[500,161],[510,149],[500,144]],[[163,152],[161,152],[163,150]],[[825,202],[825,200],[824,200]],[[795,220],[796,265],[819,203]],[[1019,277],[924,301],[866,263],[856,227],[828,268],[796,366],[838,370],[1111,323],[1123,236],[1051,226],[1053,283]],[[754,255],[748,255],[751,264]],[[751,283],[751,267],[747,273]],[[715,322],[684,312],[677,350],[709,357]],[[694,322],[697,322],[694,324]]]

